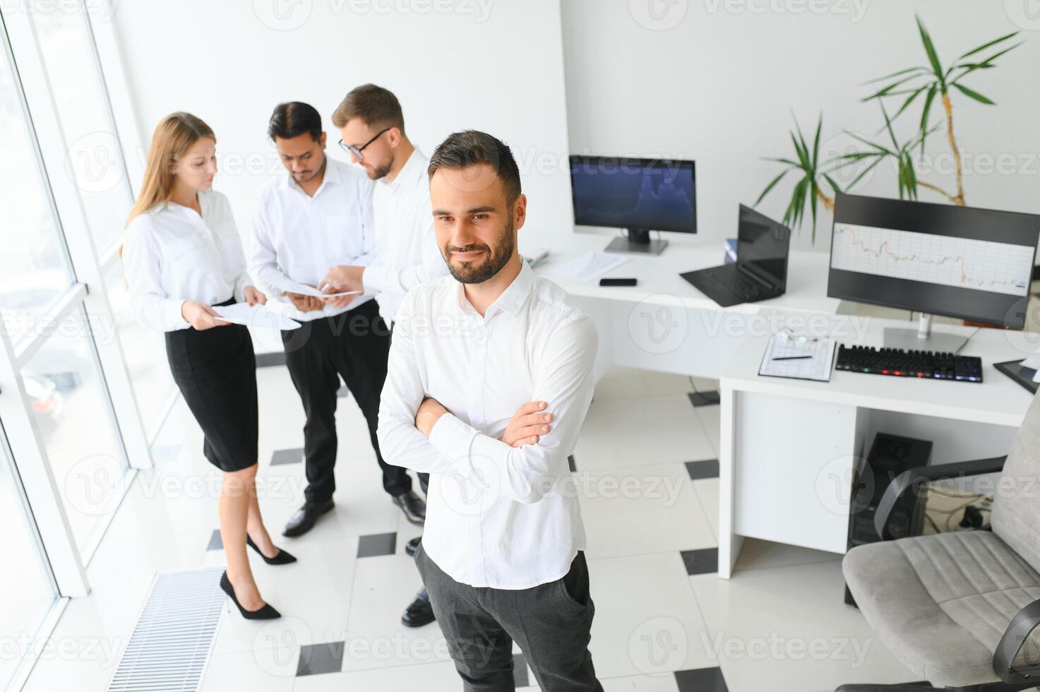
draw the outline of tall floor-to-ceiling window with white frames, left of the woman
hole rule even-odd
[[[84,567],[152,463],[142,415],[157,430],[172,402],[156,336],[126,316],[133,200],[100,62],[75,0],[0,3],[0,690],[60,599],[88,593]]]

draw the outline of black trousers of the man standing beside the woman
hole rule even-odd
[[[336,392],[339,377],[361,407],[368,422],[368,436],[383,470],[383,489],[391,495],[412,489],[412,479],[400,466],[383,460],[375,431],[380,393],[387,376],[390,330],[380,317],[375,301],[333,317],[305,322],[303,327],[282,332],[285,364],[307,414],[304,425],[304,458],[308,504],[332,499],[336,490],[338,439]]]

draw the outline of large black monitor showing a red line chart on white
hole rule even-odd
[[[887,347],[956,352],[967,339],[931,333],[931,315],[1021,329],[1038,238],[1034,214],[838,195],[827,294],[920,311]]]

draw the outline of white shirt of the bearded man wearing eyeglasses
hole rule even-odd
[[[397,306],[412,288],[448,273],[437,247],[426,168],[430,159],[416,148],[397,176],[380,180],[372,191],[375,260],[362,283],[374,293],[380,315],[392,324]]]

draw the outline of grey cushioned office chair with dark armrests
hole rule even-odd
[[[882,643],[914,677],[961,692],[1040,686],[1040,398],[1007,457],[924,466],[898,476],[875,527],[886,539],[844,557],[846,582]],[[888,515],[932,481],[1000,472],[990,524],[890,539]],[[909,677],[909,675],[908,675]],[[843,685],[838,692],[920,692],[917,685]]]

